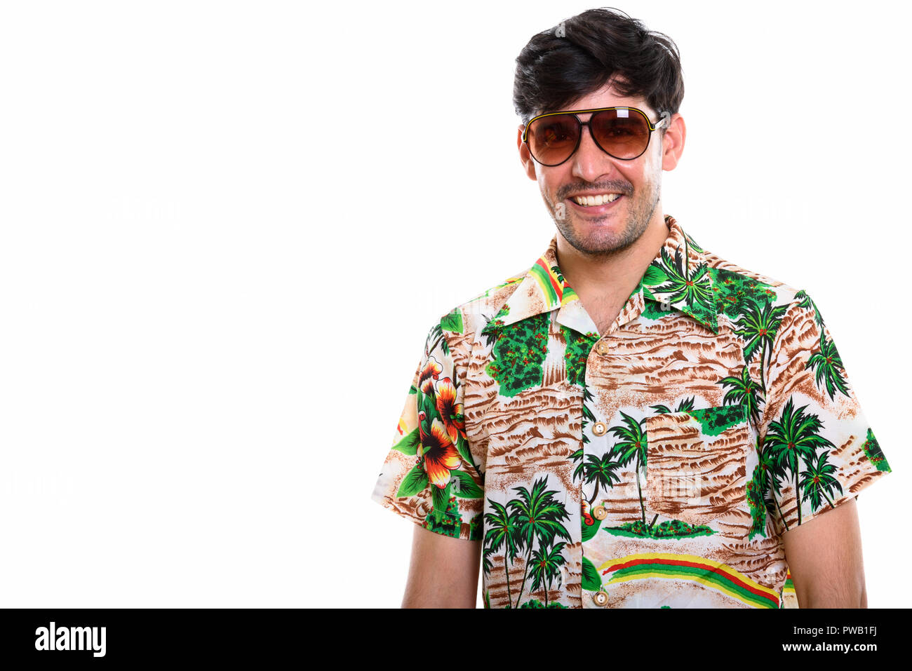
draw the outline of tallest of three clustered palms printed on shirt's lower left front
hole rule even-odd
[[[526,490],[524,487],[514,488],[519,492],[519,498],[507,503],[507,507],[513,512],[517,527],[516,545],[520,550],[526,551],[523,583],[520,585],[514,608],[519,607],[523,598],[523,589],[525,589],[525,581],[529,576],[535,542],[537,541],[541,547],[554,542],[557,536],[566,541],[571,540],[570,532],[567,532],[565,526],[561,524],[561,521],[569,520],[570,515],[563,503],[554,500],[554,494],[557,492],[544,489],[546,481],[547,476],[535,480],[532,491]]]

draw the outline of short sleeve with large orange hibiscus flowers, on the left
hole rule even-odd
[[[483,480],[463,417],[464,362],[430,329],[371,499],[431,532],[482,540]]]

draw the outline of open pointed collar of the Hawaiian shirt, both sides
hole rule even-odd
[[[662,304],[661,309],[674,309],[689,315],[718,334],[716,300],[705,253],[670,214],[665,215],[665,223],[668,238],[630,294],[627,305],[621,308],[618,318],[632,319],[642,311],[645,301],[653,301]],[[559,309],[558,323],[582,334],[598,336],[592,318],[586,314],[579,296],[567,284],[557,265],[556,233],[500,312],[484,326],[482,334],[555,309]]]

